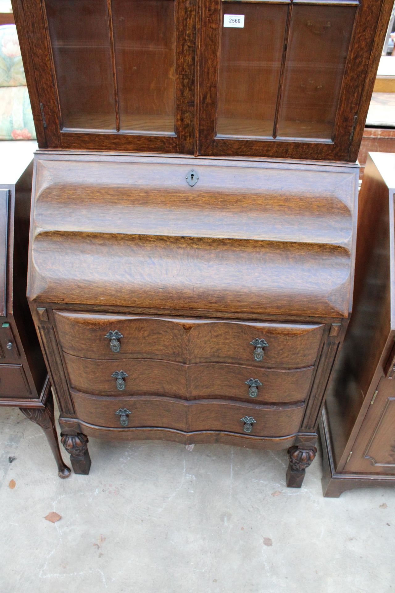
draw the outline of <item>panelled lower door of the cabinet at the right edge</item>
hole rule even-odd
[[[352,447],[346,471],[395,474],[395,380],[383,378]]]

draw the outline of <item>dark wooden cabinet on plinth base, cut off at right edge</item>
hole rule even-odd
[[[395,155],[368,155],[354,310],[323,410],[325,496],[395,485]]]

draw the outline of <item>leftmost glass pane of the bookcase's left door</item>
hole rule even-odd
[[[105,0],[46,0],[64,127],[115,130]]]

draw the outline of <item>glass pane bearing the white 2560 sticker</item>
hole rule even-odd
[[[288,7],[223,6],[244,27],[221,27],[217,134],[272,136]]]

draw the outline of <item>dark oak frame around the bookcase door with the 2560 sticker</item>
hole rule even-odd
[[[355,6],[354,28],[345,65],[339,106],[332,140],[296,141],[269,139],[216,138],[216,103],[219,76],[221,5],[232,6],[234,0],[201,0],[200,95],[199,95],[199,152],[206,156],[243,155],[250,157],[301,158],[320,160],[357,160],[358,148],[365,126],[375,73],[380,60],[381,37],[387,29],[392,0],[341,0],[336,6]],[[244,0],[248,2],[249,0]],[[280,1],[280,0],[279,0]],[[260,0],[272,5],[273,0]],[[215,6],[214,6],[215,4]],[[281,0],[281,4],[325,5],[322,0]],[[328,0],[328,5],[333,2]],[[365,39],[366,31],[376,31]],[[370,58],[370,60],[369,60]],[[364,63],[369,60],[368,66]],[[357,76],[357,65],[361,65]]]

